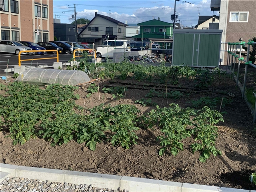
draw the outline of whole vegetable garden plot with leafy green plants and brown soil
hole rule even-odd
[[[121,64],[106,67],[100,93],[93,84],[6,88],[0,116],[3,134],[13,139],[0,134],[8,151],[3,162],[254,189],[248,174],[255,170],[249,158],[255,138],[241,131],[249,112],[240,98],[220,94],[239,93],[227,76],[187,67],[124,67],[125,80]],[[240,181],[233,182],[236,176]]]

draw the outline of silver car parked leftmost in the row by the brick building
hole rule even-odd
[[[20,51],[32,50],[30,47],[25,46],[24,44],[18,41],[0,41],[0,52],[15,53],[18,55]],[[32,52],[22,52],[21,54],[31,54]]]

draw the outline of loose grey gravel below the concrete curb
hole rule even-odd
[[[47,180],[7,177],[0,183],[0,192],[128,192],[128,190],[102,189],[87,184],[52,183]]]

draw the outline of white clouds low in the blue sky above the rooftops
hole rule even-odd
[[[182,24],[196,25],[198,23],[198,7],[200,7],[200,15],[212,14],[210,11],[209,0],[202,0],[198,2],[198,4],[177,3],[176,11],[178,12],[179,20],[182,21]],[[154,6],[151,8],[138,8],[137,10],[133,11],[132,14],[121,13],[123,10],[124,9],[120,9],[120,13],[111,12],[110,16],[120,22],[125,22],[127,20],[128,24],[140,23],[142,20],[147,21],[152,20],[152,18],[157,19],[158,17],[160,17],[160,20],[162,21],[172,23],[170,16],[174,13],[174,8],[164,5]],[[95,12],[109,16],[109,12],[85,9],[78,12],[77,18],[88,18],[91,20],[95,16]]]

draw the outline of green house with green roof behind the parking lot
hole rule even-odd
[[[157,41],[164,39],[172,42],[173,27],[171,23],[160,21],[160,18],[138,23],[140,34],[132,36],[135,41],[152,40]]]

